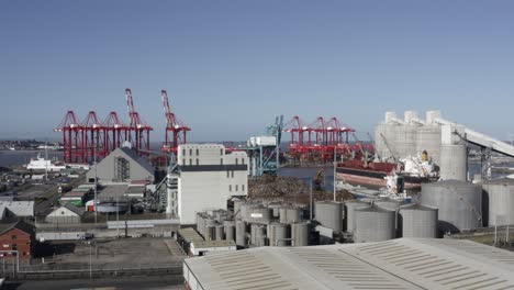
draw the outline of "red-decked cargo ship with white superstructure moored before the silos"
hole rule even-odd
[[[404,189],[418,190],[422,183],[436,181],[438,172],[432,163],[415,158],[399,163],[349,159],[337,164],[336,178],[348,183],[386,187],[402,192]]]

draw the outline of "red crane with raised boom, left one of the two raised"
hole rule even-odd
[[[126,107],[128,109],[128,142],[133,144],[139,155],[149,155],[149,126],[134,109],[131,89],[125,89]]]

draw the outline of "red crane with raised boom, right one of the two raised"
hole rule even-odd
[[[180,122],[175,113],[171,112],[171,109],[169,108],[168,93],[166,90],[160,91],[160,99],[163,101],[166,119],[165,142],[163,143],[160,149],[164,153],[177,152],[179,144],[186,144],[187,132],[191,131],[191,129]]]

